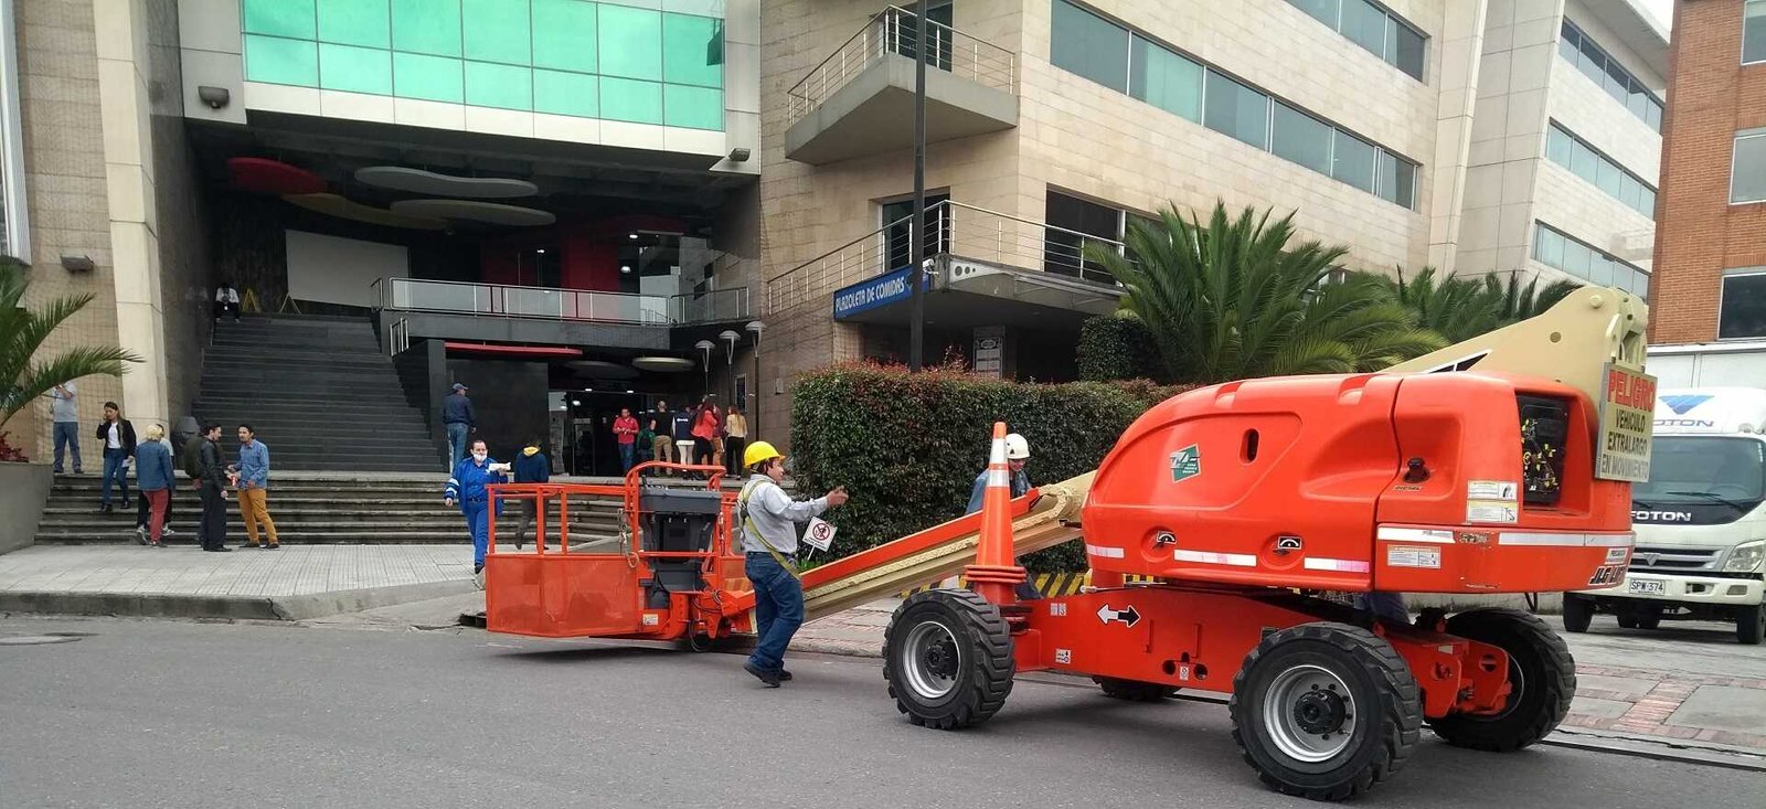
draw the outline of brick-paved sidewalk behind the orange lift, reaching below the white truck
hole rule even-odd
[[[805,624],[793,650],[881,657],[887,599]],[[1545,618],[1559,629],[1556,618]],[[1725,624],[1628,632],[1596,618],[1565,634],[1577,694],[1559,737],[1653,742],[1766,763],[1766,646],[1741,646]]]

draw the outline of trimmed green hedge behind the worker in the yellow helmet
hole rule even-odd
[[[1095,470],[1146,408],[1183,389],[1148,382],[1035,385],[955,367],[909,374],[899,366],[842,364],[798,380],[791,406],[791,473],[798,491],[846,486],[828,514],[844,556],[962,514],[987,466],[992,422],[1030,440],[1030,482]],[[1077,542],[1024,558],[1033,571],[1081,571]]]

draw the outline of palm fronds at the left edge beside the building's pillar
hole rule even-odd
[[[113,346],[69,348],[32,362],[49,334],[92,302],[92,295],[69,295],[25,307],[30,286],[25,265],[0,256],[0,426],[49,389],[81,376],[122,376],[125,362],[141,362]]]

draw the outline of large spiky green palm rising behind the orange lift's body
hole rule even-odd
[[[1125,288],[1174,382],[1377,371],[1445,344],[1376,279],[1326,283],[1344,247],[1291,242],[1293,214],[1215,203],[1206,224],[1166,208],[1130,224],[1127,254],[1086,258]]]

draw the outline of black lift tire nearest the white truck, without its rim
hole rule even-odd
[[[1455,747],[1510,752],[1528,747],[1558,728],[1575,698],[1575,659],[1570,646],[1536,615],[1521,609],[1473,609],[1446,620],[1446,632],[1508,652],[1510,677],[1519,691],[1492,717],[1453,714],[1429,728]]]

